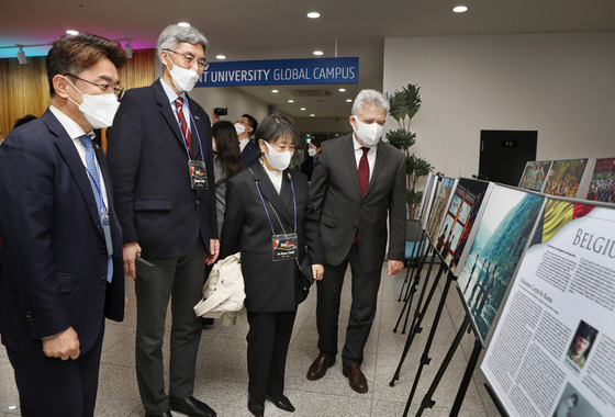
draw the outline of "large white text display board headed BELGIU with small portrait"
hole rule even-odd
[[[615,416],[615,207],[547,199],[481,370],[511,416]]]

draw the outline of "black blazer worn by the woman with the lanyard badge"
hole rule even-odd
[[[297,200],[297,233],[299,237],[299,260],[303,259],[305,246],[312,263],[323,263],[323,249],[318,226],[308,194],[308,179],[294,169],[283,171],[280,194],[261,164],[257,161],[251,171],[245,169],[226,183],[226,212],[222,227],[221,258],[237,251],[242,252],[242,271],[246,291],[246,308],[251,313],[294,312],[295,270],[294,260],[276,261],[272,259],[271,226],[262,206],[255,181],[267,204],[276,234],[282,228],[269,205],[273,205],[284,229],[293,230],[293,199]]]

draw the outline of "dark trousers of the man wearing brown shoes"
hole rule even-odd
[[[317,281],[318,296],[316,304],[316,325],[318,328],[318,349],[321,352],[337,354],[337,322],[344,274],[350,263],[353,272],[353,304],[346,328],[346,343],[342,350],[344,364],[364,360],[364,348],[376,316],[376,302],[380,288],[381,270],[365,271],[359,255],[359,246],[355,244],[346,259],[337,266],[325,263],[323,280]]]

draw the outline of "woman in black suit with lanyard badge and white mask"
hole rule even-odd
[[[299,138],[297,129],[286,117],[273,114],[262,121],[255,136],[259,161],[226,184],[221,255],[242,253],[250,325],[248,408],[262,416],[266,398],[278,408],[294,410],[283,391],[292,326],[303,300],[298,264],[308,247],[313,277],[320,280],[324,253],[308,179],[288,169]]]

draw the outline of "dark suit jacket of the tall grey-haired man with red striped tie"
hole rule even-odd
[[[197,191],[190,188],[188,154],[161,82],[126,91],[107,132],[107,154],[124,244],[138,243],[144,256],[179,258],[199,234],[208,250],[209,240],[217,238],[211,123],[188,98],[191,157],[204,159],[208,174],[208,190]]]

